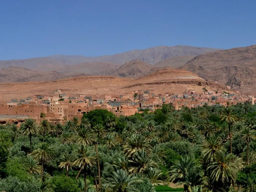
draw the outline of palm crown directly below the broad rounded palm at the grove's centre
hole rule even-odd
[[[130,160],[130,162],[132,163],[132,167],[131,169],[129,169],[129,172],[133,173],[143,174],[146,169],[150,167],[157,167],[157,163],[155,163],[153,160],[151,160],[150,157],[148,157],[144,149],[137,152],[134,160]]]

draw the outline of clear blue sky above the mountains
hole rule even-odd
[[[256,44],[256,0],[0,0],[0,60]]]

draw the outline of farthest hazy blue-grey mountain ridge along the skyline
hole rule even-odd
[[[66,65],[74,65],[79,63],[98,62],[98,63],[115,63],[124,64],[128,61],[139,59],[148,64],[154,64],[156,62],[165,60],[167,58],[192,55],[196,56],[205,52],[215,51],[217,49],[212,48],[201,48],[191,46],[159,46],[151,47],[148,49],[136,49],[128,52],[123,52],[115,55],[103,55],[98,57],[85,57],[82,55],[51,55],[48,57],[28,58],[28,59],[17,59],[17,60],[0,60],[0,69],[13,66],[21,67],[31,70],[58,70],[59,68]],[[100,68],[101,66],[99,66]],[[103,66],[104,67],[104,66]],[[100,74],[102,71],[99,70],[96,73]]]

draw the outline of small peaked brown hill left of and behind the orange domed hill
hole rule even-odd
[[[113,71],[114,76],[139,78],[154,72],[154,66],[140,60],[129,61]]]

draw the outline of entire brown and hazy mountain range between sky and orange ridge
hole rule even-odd
[[[52,81],[75,76],[142,78],[156,71],[185,69],[206,81],[256,93],[256,45],[233,49],[152,47],[115,55],[49,57],[0,61],[0,82]]]

